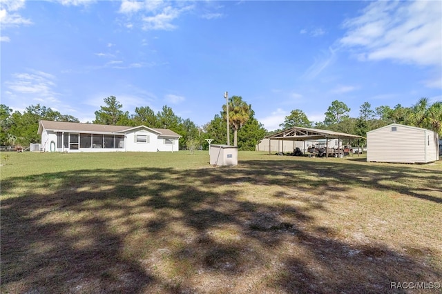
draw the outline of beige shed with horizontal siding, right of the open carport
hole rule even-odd
[[[439,136],[432,130],[390,124],[367,133],[367,161],[426,164],[439,160]]]

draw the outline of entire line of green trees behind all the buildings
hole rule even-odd
[[[421,98],[411,107],[397,104],[379,106],[372,109],[368,102],[359,108],[358,117],[349,117],[350,108],[342,101],[333,101],[325,112],[324,121],[309,121],[305,112],[300,109],[291,110],[280,124],[279,130],[267,132],[264,126],[255,118],[251,104],[247,104],[242,97],[232,96],[228,99],[229,128],[233,133],[233,145],[239,150],[255,150],[256,144],[265,137],[280,130],[302,126],[307,128],[321,128],[334,130],[340,133],[366,136],[369,130],[374,130],[388,124],[406,124],[427,128],[439,133],[442,137],[442,101],[430,104],[427,98]],[[104,99],[104,106],[95,111],[95,120],[92,124],[107,124],[117,126],[148,126],[149,128],[169,128],[181,135],[180,148],[207,150],[206,139],[213,139],[212,144],[232,144],[227,142],[227,106],[224,104],[219,114],[203,126],[197,126],[191,119],[182,119],[175,115],[172,108],[164,105],[162,110],[155,113],[149,106],[135,108],[134,113],[122,111],[123,105],[114,96]],[[60,112],[46,108],[46,106],[32,105],[23,113],[12,111],[11,108],[0,104],[0,144],[11,146],[19,144],[28,146],[30,143],[39,143],[37,135],[41,119],[52,121],[79,122],[72,115],[61,115]],[[361,142],[364,144],[364,142]]]

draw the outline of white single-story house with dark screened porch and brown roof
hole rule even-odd
[[[41,120],[40,150],[49,152],[177,151],[180,135],[147,126],[108,126]]]

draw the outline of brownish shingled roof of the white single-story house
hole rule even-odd
[[[41,120],[39,124],[38,134],[41,134],[44,129],[55,132],[70,132],[70,133],[97,133],[97,134],[115,134],[128,133],[137,128],[144,128],[151,130],[152,133],[158,133],[162,136],[181,137],[173,130],[167,128],[148,128],[147,126],[109,126],[104,124],[84,124],[67,121],[46,121]]]

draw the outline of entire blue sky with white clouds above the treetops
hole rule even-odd
[[[267,130],[332,101],[442,100],[442,1],[1,0],[1,104],[93,121],[170,106],[198,126],[242,96]]]

